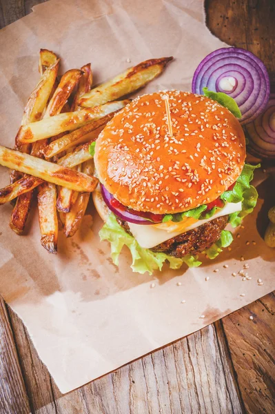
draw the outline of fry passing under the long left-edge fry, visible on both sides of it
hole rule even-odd
[[[73,168],[79,164],[82,164],[88,159],[92,159],[92,155],[89,152],[89,146],[92,144],[92,141],[75,148],[74,151],[65,155],[62,158],[59,158],[57,164],[67,168]],[[35,187],[39,186],[43,182],[42,179],[28,175],[19,179],[18,181],[10,184],[5,188],[0,189],[0,204],[5,204],[12,199],[19,197],[19,195],[24,194]]]

